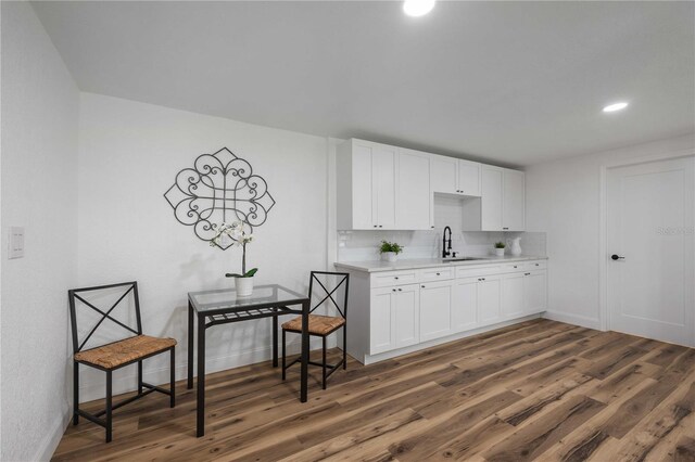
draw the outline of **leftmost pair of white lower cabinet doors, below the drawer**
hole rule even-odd
[[[420,300],[417,284],[371,291],[369,351],[376,355],[419,342]]]

